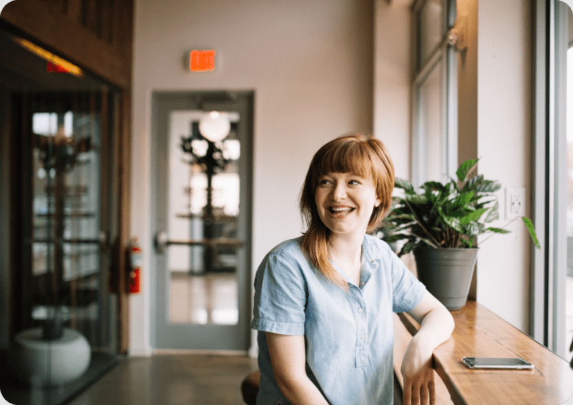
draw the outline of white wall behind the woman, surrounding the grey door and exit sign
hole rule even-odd
[[[373,18],[370,1],[135,1],[131,233],[144,247],[144,269],[152,92],[254,90],[256,269],[303,230],[297,196],[317,148],[344,132],[372,131]],[[185,70],[191,49],[214,49],[215,72]],[[143,292],[130,298],[132,355],[151,353],[149,270]]]

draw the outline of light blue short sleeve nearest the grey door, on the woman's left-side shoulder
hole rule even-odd
[[[257,270],[254,288],[252,329],[304,335],[307,287],[296,261],[269,254]]]

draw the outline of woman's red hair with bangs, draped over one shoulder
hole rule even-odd
[[[324,276],[348,290],[346,281],[332,267],[328,255],[330,230],[319,217],[315,192],[319,180],[329,173],[354,173],[372,180],[376,197],[381,203],[374,207],[368,232],[376,229],[390,210],[394,189],[394,165],[384,144],[362,133],[350,133],[329,141],[316,152],[308,168],[300,193],[300,212],[308,226],[302,242],[303,251],[308,254],[317,269]]]

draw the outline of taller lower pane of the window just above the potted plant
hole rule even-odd
[[[422,170],[425,179],[441,181],[442,175],[442,69],[443,61],[440,60],[431,70],[426,80],[420,86],[420,134],[423,139],[423,160],[425,161]]]

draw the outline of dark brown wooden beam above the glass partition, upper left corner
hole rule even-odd
[[[77,13],[76,3],[71,4],[76,7],[73,13]],[[121,26],[123,34],[123,44],[120,47],[109,46],[96,33],[85,29],[79,21],[74,21],[57,7],[41,0],[8,3],[2,10],[1,19],[34,38],[38,45],[91,70],[120,88],[130,88],[133,15],[127,13],[132,10],[132,3],[126,0],[116,4],[124,10],[120,16],[127,17],[122,21],[116,20],[116,26]]]

